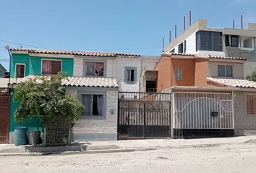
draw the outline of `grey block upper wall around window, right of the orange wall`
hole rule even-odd
[[[208,61],[208,77],[218,78],[218,65],[233,66],[234,79],[244,79],[244,63]]]

